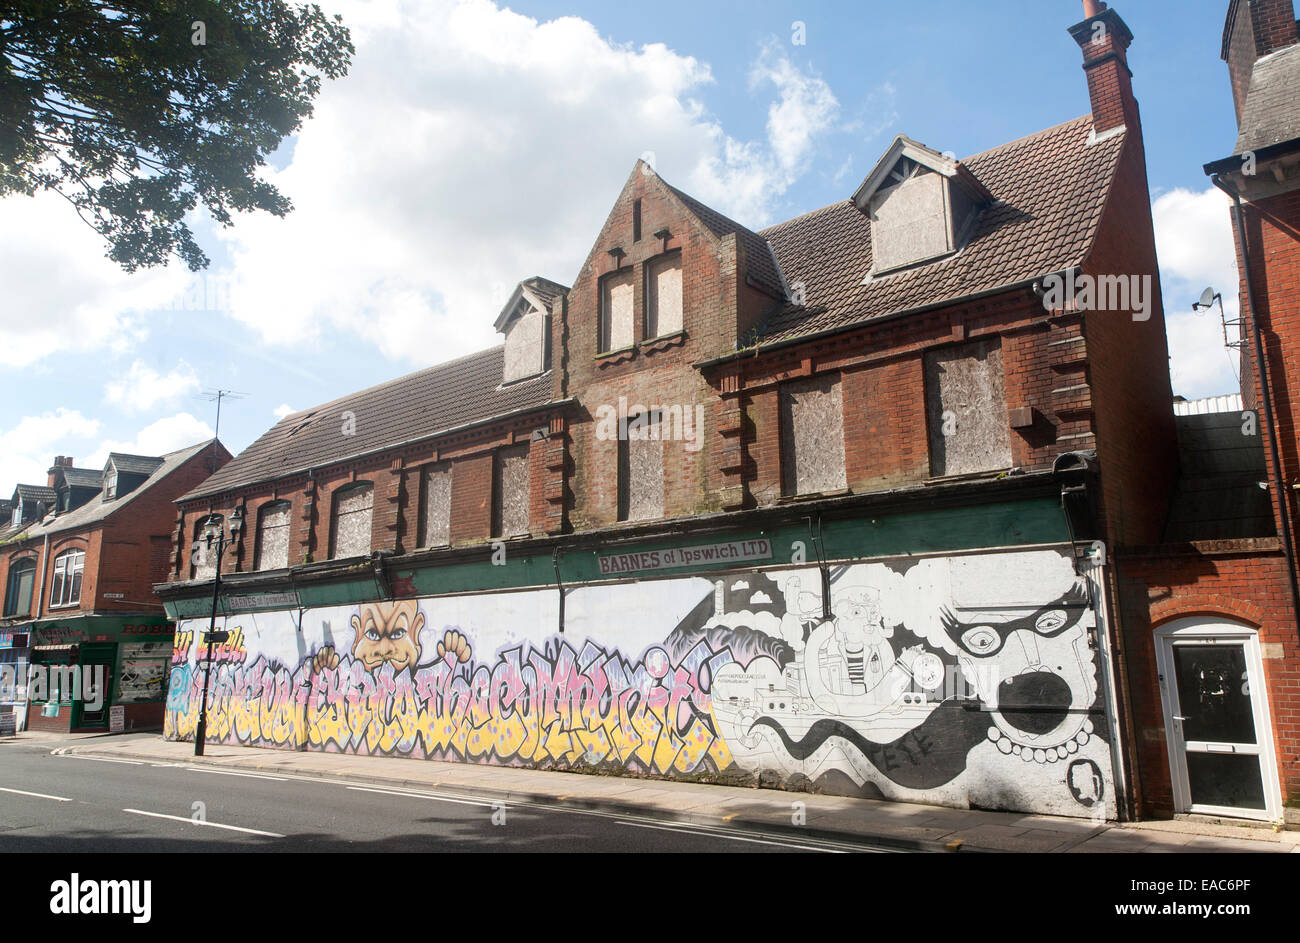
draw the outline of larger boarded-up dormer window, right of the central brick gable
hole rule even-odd
[[[958,251],[993,196],[961,161],[900,135],[853,200],[871,217],[875,277]]]

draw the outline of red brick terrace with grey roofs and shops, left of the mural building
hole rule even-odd
[[[161,726],[172,627],[152,587],[170,570],[173,502],[229,459],[216,440],[112,453],[103,468],[60,455],[46,485],[14,489],[0,527],[0,709],[18,730],[104,730],[113,706],[127,730]]]

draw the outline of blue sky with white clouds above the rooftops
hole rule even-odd
[[[636,160],[745,225],[846,199],[893,135],[978,153],[1088,112],[1079,0],[328,0],[356,56],[265,176],[285,219],[195,216],[212,264],[127,276],[57,196],[0,200],[0,494],[55,455],[238,453],[286,412],[500,342],[521,278],[572,280]],[[1131,27],[1174,392],[1238,389],[1227,0]]]

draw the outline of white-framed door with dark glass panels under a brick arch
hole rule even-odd
[[[1156,643],[1176,810],[1282,818],[1257,632],[1195,617],[1161,626]]]

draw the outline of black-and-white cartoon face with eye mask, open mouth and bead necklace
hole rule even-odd
[[[1034,760],[1054,762],[1088,741],[1087,711],[1097,693],[1089,611],[1078,584],[1028,615],[959,619],[944,611],[963,672],[1004,735],[996,740],[1001,752],[1024,748]]]

